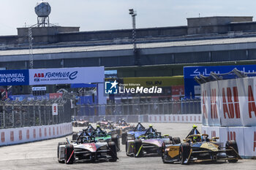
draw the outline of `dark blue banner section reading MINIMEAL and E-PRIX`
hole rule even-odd
[[[29,70],[0,70],[0,85],[29,85]]]

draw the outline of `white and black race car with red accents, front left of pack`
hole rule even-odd
[[[59,163],[72,164],[77,161],[108,160],[116,162],[116,144],[114,142],[97,142],[94,136],[79,136],[76,142],[59,142]]]

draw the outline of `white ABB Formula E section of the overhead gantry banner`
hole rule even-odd
[[[89,82],[104,82],[104,67],[29,69],[29,85]]]

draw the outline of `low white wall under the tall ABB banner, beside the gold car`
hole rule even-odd
[[[242,158],[256,158],[256,126],[252,127],[219,127],[202,126],[202,133],[209,138],[217,136],[224,146],[227,140],[236,140],[238,152]]]

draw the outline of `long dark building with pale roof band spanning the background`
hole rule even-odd
[[[31,28],[34,69],[105,66],[117,77],[171,77],[184,66],[252,64],[256,22],[251,16],[187,18],[187,26],[80,31],[79,27]],[[0,36],[0,67],[29,69],[29,28]]]

